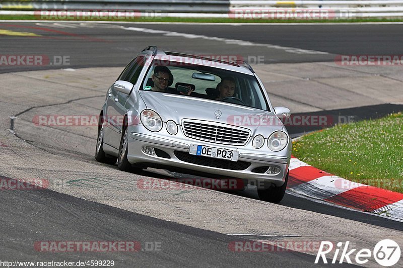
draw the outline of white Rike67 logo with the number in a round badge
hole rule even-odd
[[[375,258],[382,266],[392,266],[397,263],[400,259],[400,247],[399,245],[391,240],[384,239],[379,241],[374,249],[371,251],[368,248],[363,248],[355,253],[355,258],[351,255],[357,250],[356,248],[349,248],[350,241],[346,241],[343,246],[343,242],[337,243],[337,248],[334,250],[334,255],[332,257],[331,263],[336,263],[339,257],[340,251],[342,251],[339,259],[339,263],[346,261],[352,264],[352,259],[355,260],[357,264],[367,263],[371,255]],[[326,254],[333,250],[333,243],[329,241],[322,241],[319,246],[318,253],[316,254],[315,263],[319,263],[319,259],[322,258],[323,263],[327,263]],[[329,254],[330,255],[330,254]],[[331,257],[331,256],[330,256]]]

